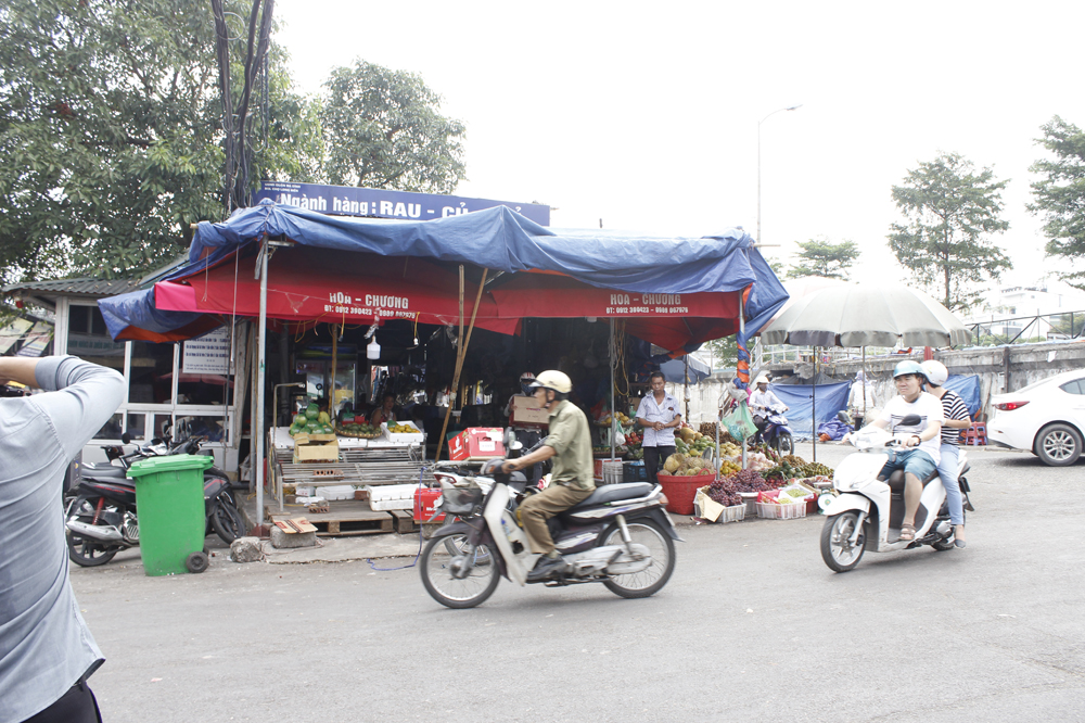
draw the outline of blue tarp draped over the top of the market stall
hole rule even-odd
[[[505,206],[400,221],[328,216],[263,201],[224,223],[200,224],[189,264],[167,278],[202,270],[265,234],[303,246],[473,264],[507,274],[560,271],[593,287],[640,293],[733,292],[753,284],[746,302],[751,331],[764,326],[788,299],[753,248],[753,238],[741,229],[702,238],[550,229]],[[104,299],[99,306],[114,339],[128,326],[169,327],[174,314],[175,328],[192,320],[191,314],[155,310],[153,289]]]

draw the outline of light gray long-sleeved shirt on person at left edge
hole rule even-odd
[[[63,485],[68,462],[124,401],[116,371],[42,359],[44,394],[0,398],[0,721],[53,705],[104,662],[68,582]],[[56,391],[60,390],[60,391]]]

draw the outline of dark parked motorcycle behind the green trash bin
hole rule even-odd
[[[129,444],[127,434],[123,439]],[[127,470],[139,459],[194,454],[199,448],[200,437],[175,445],[156,439],[130,454],[125,454],[122,446],[105,447],[108,462],[82,465],[65,505],[69,559],[81,567],[97,567],[120,550],[138,546],[136,483],[126,475]],[[214,531],[227,544],[244,534],[244,520],[233,500],[230,482],[225,472],[214,467],[204,472],[204,509],[207,534]],[[199,566],[199,561],[195,563]]]

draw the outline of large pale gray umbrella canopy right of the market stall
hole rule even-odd
[[[945,306],[907,287],[829,287],[803,296],[762,329],[766,344],[956,346],[971,335]]]

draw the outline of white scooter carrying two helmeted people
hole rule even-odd
[[[898,426],[915,427],[919,422],[918,416],[909,415]],[[825,508],[826,521],[821,530],[821,559],[835,572],[853,569],[866,549],[890,553],[923,545],[936,550],[954,548],[946,492],[937,471],[922,481],[915,538],[899,540],[904,520],[904,472],[897,470],[884,482],[878,474],[910,435],[911,432],[893,434],[877,427],[850,435],[856,452],[845,457],[833,473],[833,486],[839,496]],[[968,469],[968,455],[962,449],[957,468],[962,496],[968,492],[968,482],[963,479]],[[970,508],[967,496],[963,499],[966,509]]]

